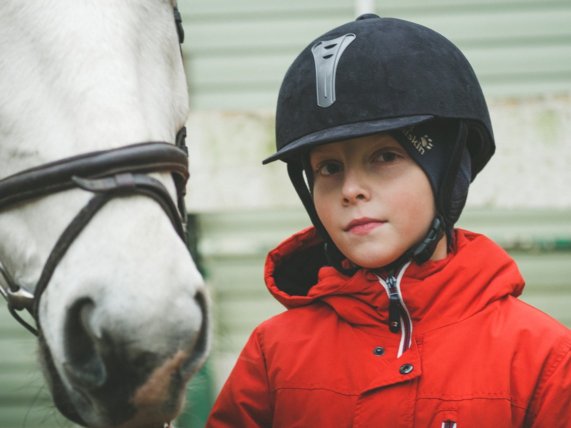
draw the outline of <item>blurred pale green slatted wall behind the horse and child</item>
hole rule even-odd
[[[407,19],[454,42],[488,102],[496,155],[458,226],[516,259],[522,300],[571,327],[571,0],[179,0],[191,114],[187,208],[212,297],[214,343],[177,426],[204,426],[251,331],[282,312],[263,282],[266,253],[311,223],[275,151],[289,64],[363,13]],[[0,428],[71,426],[53,410],[35,340],[0,310]],[[39,392],[38,392],[39,391]]]

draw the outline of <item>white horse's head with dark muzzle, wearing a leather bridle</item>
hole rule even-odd
[[[174,7],[0,1],[0,282],[35,316],[55,404],[85,426],[163,427],[208,352],[173,202],[188,114]],[[147,142],[163,143],[131,146]]]

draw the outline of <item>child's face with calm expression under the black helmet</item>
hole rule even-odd
[[[427,235],[436,212],[430,182],[391,136],[325,144],[310,160],[317,215],[353,263],[383,267]]]

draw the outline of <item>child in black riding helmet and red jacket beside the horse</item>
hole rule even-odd
[[[454,229],[494,151],[447,39],[363,15],[289,68],[278,152],[314,228],[268,255],[288,310],[244,347],[207,427],[571,427],[571,332],[512,259]],[[305,173],[305,179],[303,176]]]

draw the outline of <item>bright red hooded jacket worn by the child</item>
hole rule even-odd
[[[396,281],[317,279],[319,244],[310,228],[268,255],[288,310],[252,333],[207,427],[571,427],[571,330],[517,299],[521,274],[492,241],[458,229],[447,259]]]

